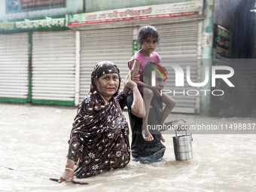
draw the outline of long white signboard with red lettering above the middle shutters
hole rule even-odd
[[[202,8],[203,1],[195,0],[190,2],[148,5],[136,8],[122,8],[117,10],[97,11],[83,14],[67,14],[66,26],[188,16],[202,14]]]

